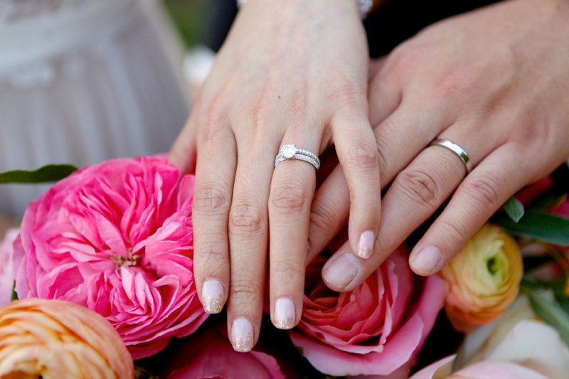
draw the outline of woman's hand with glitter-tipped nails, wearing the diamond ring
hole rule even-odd
[[[280,146],[319,155],[335,144],[351,194],[351,247],[373,248],[380,183],[367,85],[356,0],[250,0],[172,147],[182,172],[196,166],[198,294],[210,313],[228,299],[239,351],[259,336],[267,248],[273,323],[290,329],[302,312],[316,175],[299,160],[274,169]]]

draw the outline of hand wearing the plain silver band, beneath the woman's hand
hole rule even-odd
[[[380,65],[370,117],[381,188],[391,185],[371,258],[344,245],[324,267],[338,291],[363,282],[454,192],[410,255],[416,273],[439,271],[510,196],[569,157],[569,1],[504,1],[450,18]],[[452,151],[427,148],[437,138],[467,151],[474,170],[465,176]],[[314,198],[309,259],[345,225],[348,204],[336,169]]]

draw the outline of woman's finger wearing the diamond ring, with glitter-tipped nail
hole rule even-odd
[[[283,141],[302,141],[285,135]],[[306,140],[306,139],[304,139]],[[299,148],[318,152],[315,143]],[[310,204],[316,170],[300,160],[281,162],[272,176],[269,198],[270,298],[272,323],[292,329],[302,314]]]

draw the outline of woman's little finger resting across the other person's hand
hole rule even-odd
[[[336,114],[332,125],[338,159],[350,191],[349,240],[354,251],[367,259],[373,251],[381,210],[375,138],[365,117]]]

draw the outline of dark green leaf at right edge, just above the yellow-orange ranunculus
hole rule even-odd
[[[569,219],[545,213],[543,210],[528,210],[518,223],[506,215],[497,215],[494,222],[513,235],[526,235],[543,242],[569,246]]]

